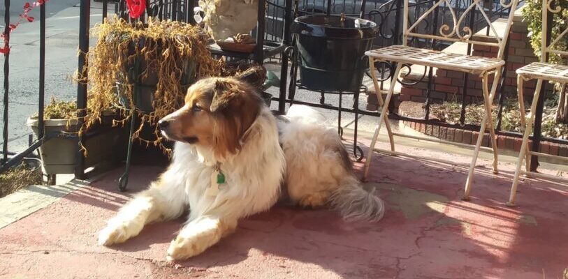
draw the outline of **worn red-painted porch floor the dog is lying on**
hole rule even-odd
[[[500,164],[494,176],[483,167],[490,162],[479,163],[472,201],[463,202],[466,169],[375,156],[370,180],[388,205],[380,223],[344,223],[333,211],[277,206],[177,264],[165,262],[166,249],[183,220],[149,225],[112,248],[96,246],[105,221],[161,171],[133,167],[129,193],[119,193],[117,169],[0,229],[0,278],[562,278],[566,188],[525,181],[518,207],[509,209],[503,202],[512,165]]]

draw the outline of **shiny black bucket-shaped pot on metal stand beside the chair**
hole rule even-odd
[[[336,15],[297,17],[292,25],[302,85],[314,91],[354,92],[363,82],[377,24]]]

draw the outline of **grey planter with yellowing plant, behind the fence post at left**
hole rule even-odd
[[[84,148],[89,150],[85,158],[86,167],[112,160],[115,152],[124,148],[126,134],[122,129],[110,129],[113,114],[106,111],[99,119],[96,129],[92,129]],[[44,135],[48,140],[39,148],[42,172],[45,175],[72,174],[75,172],[76,156],[79,150],[77,105],[75,102],[52,98],[45,106]],[[38,136],[38,114],[27,120],[27,125]],[[93,133],[96,130],[96,133]]]

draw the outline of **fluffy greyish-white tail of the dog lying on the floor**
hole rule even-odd
[[[332,193],[330,203],[345,220],[378,222],[385,208],[382,199],[374,194],[375,190],[365,190],[355,177],[347,177]]]

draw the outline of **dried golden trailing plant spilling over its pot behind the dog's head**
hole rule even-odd
[[[101,112],[119,107],[114,126],[136,120],[131,140],[160,146],[159,119],[183,105],[187,88],[198,78],[221,75],[222,61],[207,50],[207,35],[184,22],[150,18],[147,23],[114,17],[92,31],[99,37],[89,50],[89,90],[85,125],[89,130]],[[79,79],[81,81],[81,79]],[[154,127],[153,135],[140,131]]]

